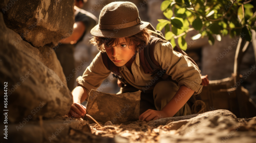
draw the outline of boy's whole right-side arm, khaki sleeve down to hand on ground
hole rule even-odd
[[[179,90],[161,111],[149,109],[142,113],[139,119],[145,121],[172,117],[193,94],[199,94],[202,90],[199,69],[181,53],[173,51],[173,47],[169,42],[156,43],[155,59],[162,69],[166,71],[166,74],[178,82]],[[181,95],[183,96],[180,100],[179,96]]]

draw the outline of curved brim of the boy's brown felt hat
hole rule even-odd
[[[120,25],[114,30],[102,30],[99,28],[99,24],[96,25],[91,29],[91,34],[96,37],[104,37],[104,38],[123,38],[123,37],[129,37],[132,35],[135,35],[139,32],[141,32],[144,28],[146,28],[149,25],[149,22],[141,21],[142,24],[137,24],[132,27],[127,28],[121,28],[122,25]]]

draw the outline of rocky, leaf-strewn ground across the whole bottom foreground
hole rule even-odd
[[[163,124],[163,119],[167,121]],[[254,143],[255,117],[238,122],[228,110],[163,118],[150,122],[133,121],[109,124],[95,123],[62,116],[54,120],[29,121],[25,125],[8,124],[11,142],[198,142]],[[155,122],[155,123],[154,123]],[[153,124],[154,123],[154,124]],[[156,124],[163,124],[155,126]],[[0,135],[1,137],[3,135]]]

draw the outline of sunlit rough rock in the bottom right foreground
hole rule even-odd
[[[228,110],[209,111],[187,120],[170,121],[164,128],[175,130],[176,135],[173,136],[172,132],[162,134],[159,142],[255,142],[255,121],[240,123]]]

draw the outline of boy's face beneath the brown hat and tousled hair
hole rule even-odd
[[[125,38],[120,38],[119,43],[117,45],[105,45],[104,48],[106,50],[106,53],[110,60],[116,65],[116,66],[123,66],[125,65],[135,54],[135,44],[126,43]]]

